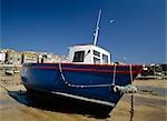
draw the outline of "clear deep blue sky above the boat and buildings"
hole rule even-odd
[[[68,54],[94,42],[111,61],[167,63],[166,0],[1,0],[0,49]],[[114,20],[114,22],[111,22]]]

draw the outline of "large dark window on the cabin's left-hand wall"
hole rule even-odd
[[[85,51],[75,52],[73,62],[84,62]]]

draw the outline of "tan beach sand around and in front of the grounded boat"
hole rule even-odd
[[[135,94],[132,121],[166,121],[167,80],[136,80],[134,84],[138,91]],[[0,73],[1,121],[130,121],[130,94],[125,94],[105,119],[70,109],[62,111],[29,105],[24,94],[26,89],[19,75]]]

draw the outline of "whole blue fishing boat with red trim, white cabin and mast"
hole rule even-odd
[[[24,63],[22,83],[27,90],[48,92],[73,100],[95,103],[109,113],[141,70],[137,64],[110,62],[110,53],[96,44],[101,11],[98,14],[92,44],[69,48],[68,61],[57,63]],[[128,90],[135,91],[132,87]]]

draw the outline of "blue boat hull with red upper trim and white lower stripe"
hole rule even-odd
[[[46,91],[98,104],[115,107],[121,93],[114,85],[126,85],[141,65],[100,65],[72,63],[26,63],[21,79],[26,88]]]

